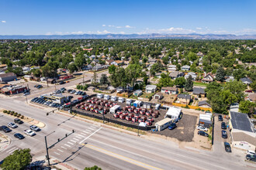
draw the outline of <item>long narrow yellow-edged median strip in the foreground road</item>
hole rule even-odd
[[[85,145],[85,144],[84,144]],[[124,162],[129,162],[130,164],[133,164],[133,165],[137,165],[137,166],[140,166],[142,168],[147,168],[147,169],[157,169],[157,170],[160,170],[162,168],[157,168],[157,167],[154,167],[152,165],[148,165],[146,163],[143,163],[143,162],[138,162],[137,160],[134,160],[132,158],[128,158],[128,157],[125,157],[123,155],[119,155],[119,154],[116,154],[112,151],[107,151],[106,149],[103,149],[103,148],[99,148],[99,147],[96,147],[94,145],[89,145],[89,144],[86,144],[85,147],[87,148],[91,148],[95,151],[99,151],[103,154],[106,154],[106,155],[109,155],[109,156],[112,156],[114,158],[118,158],[120,160],[123,160]]]

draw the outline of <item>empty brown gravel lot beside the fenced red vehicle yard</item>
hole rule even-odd
[[[195,124],[197,116],[183,113],[182,119],[178,121],[177,128],[164,131],[157,131],[156,134],[162,134],[170,138],[176,138],[178,141],[191,142],[194,138]]]

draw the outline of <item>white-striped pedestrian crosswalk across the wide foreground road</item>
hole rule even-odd
[[[98,131],[99,127],[92,125],[87,128],[85,131],[79,132],[74,138],[66,141],[65,144],[61,145],[61,148],[57,148],[53,153],[54,155],[61,155],[64,150],[71,149],[79,144],[80,141],[85,141],[86,138],[89,138],[95,131]]]

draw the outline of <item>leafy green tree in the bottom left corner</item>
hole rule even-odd
[[[22,170],[32,161],[30,149],[19,149],[4,159],[1,168],[3,170]]]

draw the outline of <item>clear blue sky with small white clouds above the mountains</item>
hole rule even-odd
[[[255,0],[0,0],[0,35],[256,34]]]

